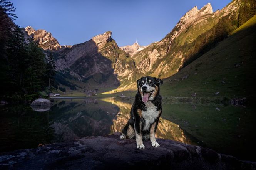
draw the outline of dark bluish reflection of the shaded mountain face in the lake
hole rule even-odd
[[[55,133],[53,141],[110,134],[112,120],[118,111],[117,106],[98,99],[55,100],[50,125]]]

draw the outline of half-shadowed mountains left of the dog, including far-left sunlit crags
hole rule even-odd
[[[47,57],[50,53],[54,55],[57,83],[62,89],[68,87],[85,92],[102,87],[113,89],[122,81],[131,82],[129,76],[135,68],[134,60],[118,47],[111,38],[111,31],[73,46],[60,46],[45,30],[27,26],[22,31],[26,42],[33,39],[44,49]]]

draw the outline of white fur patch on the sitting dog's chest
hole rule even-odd
[[[144,127],[143,130],[148,130],[150,125],[154,122],[154,120],[159,115],[159,111],[151,101],[146,102],[146,111],[142,111],[142,117],[144,119]]]

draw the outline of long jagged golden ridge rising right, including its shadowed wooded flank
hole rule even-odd
[[[209,51],[216,42],[228,36],[226,32],[229,30],[226,31],[223,26],[228,25],[230,30],[235,28],[236,23],[231,26],[229,24],[237,22],[238,10],[242,4],[243,0],[233,0],[216,12],[213,12],[210,3],[200,10],[197,7],[189,10],[162,40],[132,56],[136,63],[133,83],[121,84],[117,91],[134,89],[136,80],[141,76],[168,78]]]

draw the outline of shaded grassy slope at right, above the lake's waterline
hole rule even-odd
[[[215,48],[167,78],[162,96],[228,98],[255,95],[256,16]],[[217,92],[219,92],[217,94]]]

